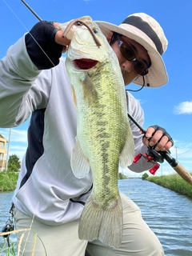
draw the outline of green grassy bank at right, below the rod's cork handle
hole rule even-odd
[[[185,182],[178,174],[163,175],[160,177],[150,176],[146,180],[192,198],[192,186]]]

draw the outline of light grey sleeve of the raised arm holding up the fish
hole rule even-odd
[[[49,81],[30,60],[25,36],[10,46],[0,61],[0,126],[19,126],[33,110],[45,107]]]

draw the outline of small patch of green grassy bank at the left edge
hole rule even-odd
[[[18,181],[18,173],[13,171],[0,172],[0,191],[14,190]]]

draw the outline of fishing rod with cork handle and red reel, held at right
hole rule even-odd
[[[138,126],[138,129],[142,131],[142,134],[146,134],[146,130],[142,128],[142,126],[140,126],[138,124],[138,122],[128,113],[128,118],[130,118],[130,120],[132,122],[134,122],[134,124],[136,126]],[[159,162],[163,162],[163,159],[166,160],[166,162],[168,162],[170,164],[170,166],[187,182],[192,186],[192,176],[190,175],[190,173],[176,160],[174,159],[170,153],[166,150],[166,151],[156,151],[152,148],[149,148],[150,150],[150,154],[149,154],[149,158],[148,155],[138,155],[138,157],[136,156],[135,159],[135,163],[138,162],[139,158],[141,158],[142,156],[144,158],[147,158],[146,160],[148,160],[148,162],[152,162],[151,160],[153,160],[153,158],[151,157],[151,154],[154,155],[154,157],[157,157]],[[158,166],[156,166],[156,168],[158,169]],[[155,172],[155,170],[154,170]]]

